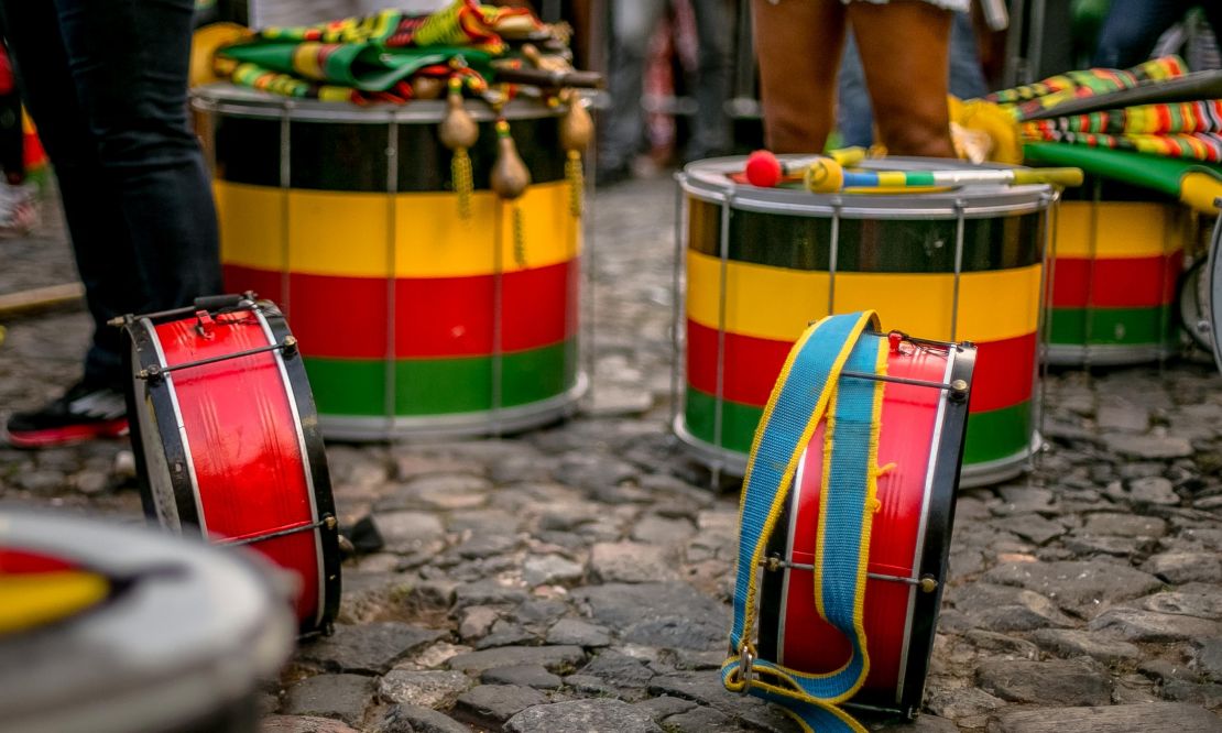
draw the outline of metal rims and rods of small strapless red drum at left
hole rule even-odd
[[[167,365],[155,327],[182,320],[185,316],[189,318],[198,312],[205,312],[209,316],[251,313],[258,320],[266,346]],[[297,431],[310,520],[299,527],[262,531],[240,539],[213,539],[213,541],[220,545],[255,545],[290,534],[306,531],[313,534],[319,597],[314,618],[302,618],[301,630],[303,634],[330,633],[340,608],[338,520],[309,380],[297,349],[297,340],[290,334],[284,315],[274,304],[255,302],[253,293],[247,293],[200,298],[196,307],[128,315],[116,319],[116,323],[123,326],[128,338],[128,348],[123,349],[123,359],[128,374],[132,375],[127,408],[132,415],[130,421],[132,445],[136,447],[134,457],[137,473],[141,476],[144,513],[150,518],[155,517],[161,527],[175,534],[209,539],[191,437],[187,435],[174,373],[264,353],[270,353],[275,359],[280,384],[285,388]],[[153,442],[154,436],[145,430],[144,420],[149,417],[145,406],[152,409],[152,417],[155,419],[158,442]],[[194,528],[196,531],[183,531],[185,528]]]

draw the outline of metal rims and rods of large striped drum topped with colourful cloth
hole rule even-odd
[[[404,123],[437,123],[445,110],[445,101],[439,100],[415,100],[407,105],[369,105],[356,108],[346,104],[336,103],[324,103],[318,100],[308,99],[292,99],[274,97],[270,94],[255,92],[252,89],[244,89],[240,87],[233,87],[230,84],[210,84],[200,87],[193,90],[192,95],[192,108],[198,112],[207,116],[209,131],[215,129],[216,116],[227,115],[231,117],[253,117],[263,120],[279,120],[280,121],[280,171],[279,171],[279,189],[281,192],[281,211],[280,216],[284,221],[284,227],[281,230],[281,292],[284,293],[284,301],[286,301],[286,309],[292,313],[292,303],[290,296],[290,239],[291,239],[291,224],[292,220],[288,214],[288,192],[292,191],[292,137],[291,137],[291,123],[293,122],[354,122],[360,125],[367,125],[370,128],[379,125],[385,126],[386,131],[386,188],[384,191],[386,195],[386,232],[387,241],[386,246],[386,265],[389,275],[386,277],[386,303],[387,303],[387,323],[386,323],[386,356],[384,364],[384,415],[385,417],[352,417],[352,415],[329,415],[320,414],[319,421],[323,426],[323,432],[327,437],[340,439],[340,440],[356,440],[356,441],[368,441],[368,440],[386,440],[393,437],[411,437],[411,436],[472,436],[472,435],[494,435],[499,436],[502,432],[512,432],[518,430],[525,430],[529,428],[535,428],[545,425],[556,419],[562,419],[571,417],[577,410],[577,401],[585,395],[589,388],[589,377],[587,371],[593,373],[589,368],[590,364],[585,364],[585,369],[582,369],[582,353],[593,351],[587,347],[593,338],[589,329],[591,329],[593,319],[582,319],[578,324],[579,341],[577,345],[576,364],[572,365],[576,373],[574,384],[568,387],[565,392],[556,395],[554,397],[527,403],[514,407],[502,406],[502,369],[505,352],[501,346],[501,331],[503,323],[503,268],[501,261],[501,247],[499,246],[505,232],[501,228],[501,214],[503,210],[503,202],[499,203],[497,216],[495,221],[497,222],[497,231],[492,233],[492,252],[495,258],[495,271],[494,271],[494,296],[492,296],[492,353],[491,353],[491,379],[490,379],[490,392],[491,392],[491,409],[478,410],[470,413],[447,413],[428,417],[400,417],[396,414],[396,374],[395,374],[395,362],[396,362],[396,318],[397,309],[395,304],[396,294],[396,197],[398,195],[398,170],[400,170],[400,149],[398,149],[398,132],[400,126]],[[486,105],[467,105],[467,111],[477,122],[488,122],[495,120],[496,117]],[[534,119],[536,108],[530,106],[523,101],[510,101],[505,105],[502,110],[502,116],[506,120],[525,120]],[[213,171],[215,177],[216,170],[216,150],[215,145],[205,145],[205,153],[208,159],[209,170]],[[585,217],[583,217],[585,219]],[[583,221],[579,226],[585,226]],[[580,257],[580,244],[578,242],[573,243],[574,257],[583,261],[589,258]],[[585,285],[589,290],[593,290],[593,268],[587,266],[585,269]],[[578,305],[579,308],[579,305]],[[572,318],[574,314],[572,312],[566,314],[566,318]],[[565,371],[571,368],[568,357],[565,357]]]

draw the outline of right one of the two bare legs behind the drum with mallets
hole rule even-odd
[[[851,2],[848,17],[887,151],[954,158],[946,105],[951,12],[892,0]]]

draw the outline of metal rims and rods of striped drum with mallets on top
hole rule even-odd
[[[782,156],[782,159],[786,156]],[[789,156],[798,159],[800,156]],[[728,175],[732,172],[739,172],[743,165],[743,158],[722,158],[711,159],[706,161],[700,161],[699,165],[706,166],[706,172],[710,175]],[[945,160],[935,159],[919,159],[919,158],[890,158],[882,160],[868,160],[863,164],[863,167],[873,167],[879,170],[886,170],[891,164],[908,164],[924,166],[929,170],[935,167],[947,167],[952,162]],[[892,166],[893,167],[893,166]],[[880,214],[886,213],[892,216],[909,216],[909,217],[925,217],[925,219],[946,219],[953,220],[956,222],[956,254],[954,254],[954,271],[952,272],[954,277],[953,294],[952,294],[952,308],[951,308],[951,324],[949,324],[949,342],[956,341],[956,319],[959,310],[959,281],[963,275],[963,248],[964,248],[964,225],[968,219],[989,219],[995,215],[1017,215],[1017,214],[1029,214],[1035,211],[1055,211],[1055,204],[1059,200],[1059,193],[1056,189],[1047,186],[1035,186],[1029,187],[1033,192],[1039,191],[1037,195],[1033,195],[1033,202],[1024,206],[1014,205],[1002,205],[997,202],[997,198],[982,197],[984,200],[976,204],[969,204],[967,199],[959,195],[948,197],[951,205],[945,209],[938,209],[931,211],[929,208],[906,208],[903,205],[903,199],[895,195],[879,194],[863,197],[860,194],[813,194],[805,191],[803,192],[786,192],[781,189],[761,189],[758,187],[747,186],[756,195],[752,198],[745,198],[736,195],[736,186],[732,184],[728,178],[725,181],[710,181],[706,177],[701,178],[693,175],[688,169],[676,173],[676,217],[675,217],[675,275],[673,275],[673,288],[675,288],[675,304],[672,312],[672,373],[671,373],[671,425],[675,430],[676,436],[693,457],[695,457],[701,463],[705,463],[712,473],[712,484],[720,481],[720,475],[725,472],[736,476],[743,475],[747,469],[747,456],[737,451],[732,451],[723,447],[717,447],[722,445],[722,424],[723,424],[723,410],[725,410],[725,356],[726,356],[726,301],[727,301],[727,269],[730,264],[730,217],[733,210],[744,211],[758,211],[764,214],[791,214],[791,215],[810,215],[821,214],[831,220],[831,238],[835,246],[831,248],[831,260],[830,268],[827,270],[829,275],[829,302],[827,312],[825,314],[811,314],[811,320],[820,315],[830,315],[832,313],[832,305],[836,296],[836,275],[837,275],[837,250],[840,248],[840,224],[842,220],[847,219],[860,219],[869,220],[877,217]],[[770,191],[775,193],[769,193],[769,199],[760,198],[760,192]],[[993,188],[996,191],[996,187]],[[717,324],[717,375],[716,375],[716,392],[714,397],[716,398],[715,412],[714,412],[714,441],[711,445],[705,441],[697,439],[684,425],[684,410],[686,410],[686,398],[683,396],[683,354],[686,353],[686,329],[683,325],[683,319],[686,315],[686,298],[683,293],[686,288],[683,287],[684,277],[683,272],[686,270],[683,265],[683,254],[687,249],[688,239],[688,199],[690,197],[700,198],[709,203],[715,203],[720,205],[721,221],[720,221],[720,239],[719,239],[719,261],[720,261],[720,275],[719,275],[719,324]],[[937,214],[937,216],[931,216]],[[1041,272],[1040,272],[1040,290],[1037,315],[1036,315],[1036,351],[1039,351],[1039,345],[1044,342],[1046,331],[1046,309],[1042,304],[1042,293],[1047,288],[1048,277],[1048,263],[1051,252],[1055,250],[1055,237],[1053,227],[1050,225],[1050,216],[1042,217],[1041,231],[1039,233],[1040,247],[1041,247]],[[887,324],[888,326],[892,324]],[[899,325],[899,324],[895,324]],[[1042,392],[1039,388],[1041,376],[1041,365],[1039,360],[1039,353],[1033,364],[1031,370],[1031,436],[1026,447],[1019,453],[1009,457],[1003,457],[996,461],[979,462],[965,468],[963,472],[960,485],[964,487],[974,486],[987,486],[996,484],[1017,475],[1020,475],[1026,469],[1033,456],[1037,454],[1040,446],[1044,443],[1044,439],[1040,434],[1039,425],[1042,424]],[[1039,397],[1039,398],[1037,398]]]

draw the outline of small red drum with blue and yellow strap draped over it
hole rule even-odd
[[[738,624],[736,604],[732,639],[738,633],[739,646],[731,657],[747,643],[754,657],[748,665],[765,683],[777,671],[789,677],[821,676],[820,682],[807,680],[805,691],[815,698],[822,696],[816,691],[821,689],[827,696],[851,695],[852,705],[912,717],[924,696],[946,582],[969,395],[975,398],[976,352],[968,343],[880,335],[866,326],[855,346],[849,338],[853,351],[840,369],[799,374],[802,359],[810,358],[799,353],[803,348],[819,349],[827,360],[841,348],[836,338],[818,341],[820,331],[858,316],[824,319],[803,336],[774,388],[771,412],[760,424],[744,489],[736,590],[738,599],[744,597],[744,585],[758,586],[759,634],[752,638],[750,621]],[[835,390],[835,397],[824,412],[815,407],[808,414],[805,404],[794,412],[802,399],[787,392],[799,387],[808,393]],[[816,398],[807,399],[814,403]],[[860,424],[847,412],[853,409]],[[809,421],[805,431],[792,428],[796,419],[798,425]],[[858,432],[848,432],[854,429]],[[837,441],[875,446],[875,454],[860,456],[854,464],[852,456],[840,452],[844,446]],[[770,443],[777,446],[774,452],[769,452]],[[781,472],[776,467],[785,465],[786,453],[793,458]],[[765,461],[774,468],[763,465]],[[857,506],[857,514],[846,501]],[[771,527],[761,522],[764,516],[775,518]],[[747,568],[763,566],[754,584],[744,563]],[[840,584],[838,595],[827,583]],[[859,610],[858,641],[852,639],[858,635],[855,622],[848,624],[846,635],[838,622],[847,619],[833,607],[853,600],[843,596],[854,588],[849,595],[855,595]],[[745,619],[756,616],[747,612],[752,602],[743,601]],[[832,695],[829,685],[835,683],[829,678],[862,660],[868,662],[859,669],[857,685]],[[737,662],[741,680],[742,660]]]

